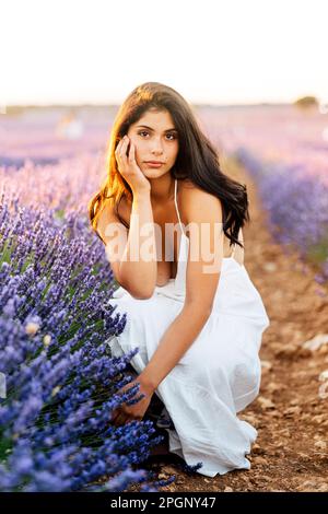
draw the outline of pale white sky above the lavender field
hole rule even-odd
[[[328,0],[1,0],[0,108],[119,104],[162,82],[189,102],[328,102]]]

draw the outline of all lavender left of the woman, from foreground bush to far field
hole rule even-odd
[[[112,410],[136,388],[119,394],[134,352],[110,357],[126,315],[107,303],[113,273],[87,222],[104,171],[102,124],[89,122],[80,138],[63,127],[58,137],[57,113],[0,127],[3,491],[121,491],[138,482],[147,491],[174,479],[140,467],[162,439],[152,421],[110,425]]]

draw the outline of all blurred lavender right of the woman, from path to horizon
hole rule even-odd
[[[328,281],[328,114],[294,106],[202,109],[221,154],[254,177],[269,229]],[[318,289],[318,294],[326,294]]]

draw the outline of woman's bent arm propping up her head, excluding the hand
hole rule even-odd
[[[149,230],[141,234],[145,223]],[[97,230],[118,283],[138,300],[152,296],[156,285],[157,260],[150,189],[134,191],[129,231],[110,206],[106,206],[99,214]]]

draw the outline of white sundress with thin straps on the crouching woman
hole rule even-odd
[[[176,190],[177,180],[175,206],[181,237],[176,278],[156,285],[147,300],[134,299],[122,287],[109,300],[117,313],[127,313],[124,331],[108,340],[113,357],[139,347],[130,361],[138,374],[184,307],[189,238],[183,230]],[[270,320],[258,290],[234,253],[222,260],[210,317],[155,389],[174,424],[174,429],[165,429],[169,452],[189,466],[201,462],[198,472],[207,477],[249,469],[246,454],[257,437],[257,430],[236,413],[259,393],[259,349]]]

